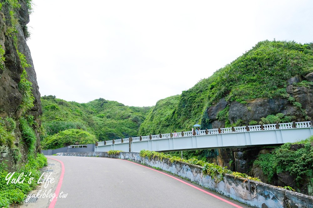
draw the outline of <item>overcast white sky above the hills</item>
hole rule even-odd
[[[263,40],[313,42],[313,1],[33,0],[41,95],[152,106]]]

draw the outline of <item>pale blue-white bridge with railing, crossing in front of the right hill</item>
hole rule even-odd
[[[297,142],[310,137],[313,121],[276,123],[200,131],[166,133],[98,142],[95,152],[122,150],[140,152],[142,149],[166,152],[208,148],[237,148]]]

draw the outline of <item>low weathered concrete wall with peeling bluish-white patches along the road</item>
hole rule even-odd
[[[313,208],[313,197],[266,183],[249,181],[244,178],[235,178],[225,174],[223,180],[217,182],[210,176],[204,176],[202,167],[184,162],[170,162],[169,159],[160,160],[156,158],[140,157],[137,152],[121,152],[109,155],[107,152],[75,152],[59,153],[63,156],[83,157],[110,157],[132,160],[144,163],[152,167],[172,172],[180,177],[197,183],[205,188],[218,192],[229,198],[233,198],[244,204],[260,208]]]

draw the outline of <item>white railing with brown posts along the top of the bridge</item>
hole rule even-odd
[[[205,135],[205,134],[236,133],[236,132],[247,132],[247,131],[262,131],[262,130],[274,130],[274,129],[285,129],[285,128],[307,128],[307,127],[313,127],[313,121],[275,123],[275,124],[264,124],[264,125],[261,124],[261,125],[253,125],[253,126],[246,125],[246,126],[230,127],[230,128],[205,129],[205,130],[199,130],[199,131],[194,131],[194,132],[182,131],[182,132],[176,132],[176,133],[174,132],[174,133],[156,134],[156,135],[140,136],[140,137],[133,137],[133,138],[131,137],[131,142],[175,138],[175,137],[186,137],[186,136],[198,136],[198,135]],[[128,143],[129,139],[130,138],[113,139],[110,141],[98,142],[97,146]],[[84,146],[84,145],[72,145],[72,146]],[[71,146],[69,146],[69,148],[70,147]]]

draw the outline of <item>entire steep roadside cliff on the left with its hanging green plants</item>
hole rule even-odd
[[[0,162],[9,168],[40,151],[40,93],[29,37],[30,1],[0,3]]]

